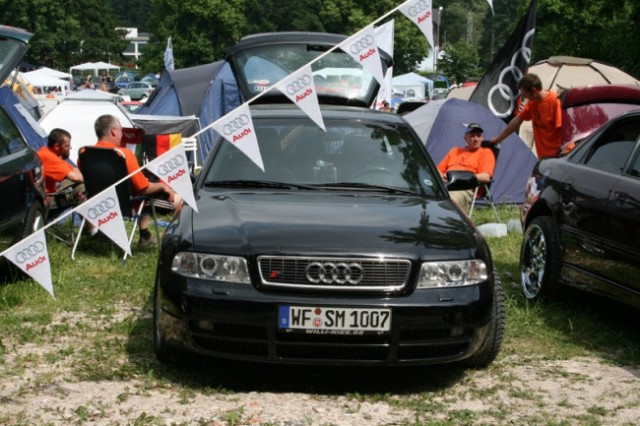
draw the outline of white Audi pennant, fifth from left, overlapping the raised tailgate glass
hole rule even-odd
[[[313,120],[322,130],[324,121],[320,112],[318,93],[313,84],[311,66],[307,65],[299,71],[289,75],[276,85],[276,88],[293,101],[305,114]]]

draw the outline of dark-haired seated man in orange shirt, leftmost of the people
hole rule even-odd
[[[65,196],[64,200],[52,197],[49,207],[56,209],[63,203],[77,204],[84,200],[84,179],[80,170],[66,161],[71,151],[71,134],[63,129],[53,129],[47,139],[47,146],[36,152],[42,162],[45,191],[51,194],[73,187],[73,194]]]

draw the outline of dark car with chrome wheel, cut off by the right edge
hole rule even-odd
[[[538,162],[522,213],[527,298],[569,285],[640,307],[640,110]]]

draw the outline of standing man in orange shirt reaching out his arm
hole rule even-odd
[[[498,144],[513,133],[523,121],[531,120],[533,140],[538,158],[555,157],[562,145],[562,106],[555,92],[542,89],[542,81],[536,74],[526,74],[518,82],[518,90],[527,99],[522,111],[496,137],[489,140]]]

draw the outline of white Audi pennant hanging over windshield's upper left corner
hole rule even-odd
[[[213,123],[213,128],[264,171],[249,105],[242,104],[229,112]]]

